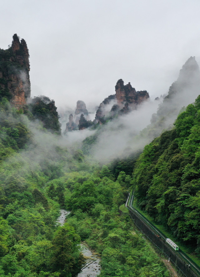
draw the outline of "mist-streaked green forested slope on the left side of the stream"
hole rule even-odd
[[[78,152],[70,154],[56,140],[48,151],[27,116],[5,98],[0,114],[0,276],[74,276],[84,262],[80,236],[72,226],[56,225],[62,187],[54,185],[55,200],[45,188],[69,168],[77,170]],[[52,136],[40,135],[46,141]]]

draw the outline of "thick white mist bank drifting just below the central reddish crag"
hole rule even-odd
[[[90,151],[94,159],[107,163],[142,149],[149,138],[136,140],[136,136],[150,124],[151,115],[157,111],[162,100],[160,98],[155,101],[145,101],[137,110],[119,116],[102,126],[97,141]]]

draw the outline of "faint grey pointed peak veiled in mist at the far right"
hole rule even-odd
[[[156,114],[153,114],[151,123],[154,137],[162,129],[171,128],[169,118],[173,122],[183,106],[195,101],[200,91],[200,71],[195,57],[190,57],[179,72],[177,81],[169,87],[168,95],[164,97]]]

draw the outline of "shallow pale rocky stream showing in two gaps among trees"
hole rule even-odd
[[[66,216],[70,214],[69,211],[60,210],[60,216],[57,219],[57,223],[61,226],[65,223]],[[100,258],[94,255],[84,244],[81,244],[81,252],[84,257],[87,258],[85,268],[77,275],[77,277],[95,277],[100,274]]]

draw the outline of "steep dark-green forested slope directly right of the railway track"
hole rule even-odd
[[[200,257],[200,96],[174,128],[145,146],[134,168],[140,208]]]

